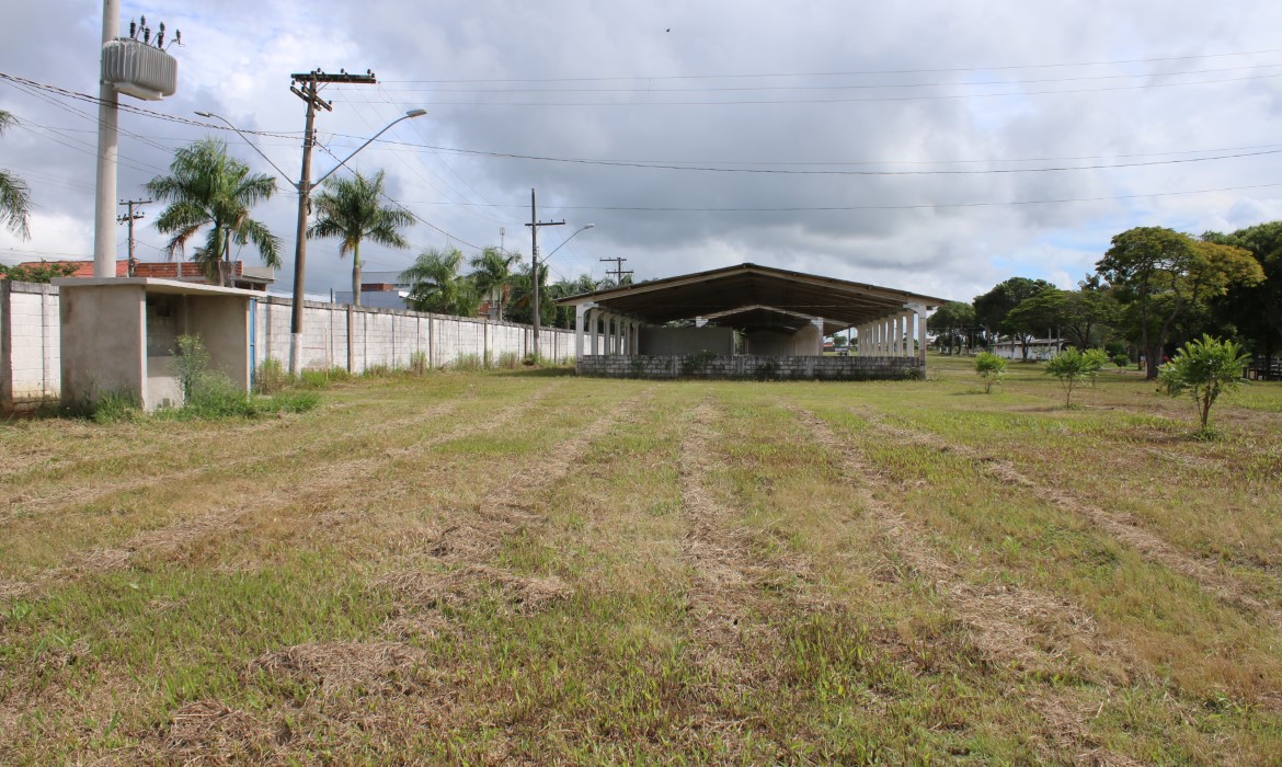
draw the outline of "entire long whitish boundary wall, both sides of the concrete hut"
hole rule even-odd
[[[62,394],[58,289],[0,280],[0,413],[29,410]],[[273,358],[286,367],[294,301],[263,295],[251,304],[254,367]],[[460,359],[496,364],[504,355],[533,353],[533,328],[512,322],[396,309],[304,303],[303,367],[347,366],[351,322],[353,371],[408,367],[422,353],[431,367]],[[540,355],[565,362],[574,357],[574,331],[540,328]]]

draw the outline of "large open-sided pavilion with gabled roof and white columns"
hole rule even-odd
[[[558,304],[574,307],[581,375],[868,380],[926,373],[926,318],[944,301],[738,264]],[[824,336],[847,328],[855,330],[858,353],[824,357]]]

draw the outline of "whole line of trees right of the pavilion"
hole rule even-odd
[[[950,301],[928,321],[945,353],[1064,339],[1145,360],[1163,359],[1204,335],[1233,339],[1255,355],[1282,351],[1282,222],[1192,236],[1137,227],[1113,237],[1076,290],[1011,277],[969,304]]]

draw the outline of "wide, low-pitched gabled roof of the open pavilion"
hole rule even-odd
[[[556,303],[594,303],[651,324],[703,317],[738,330],[796,330],[820,317],[824,332],[832,333],[903,312],[905,304],[933,309],[945,301],[878,285],[738,264],[585,292]]]

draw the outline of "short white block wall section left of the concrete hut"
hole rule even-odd
[[[58,289],[0,280],[0,413],[26,412],[62,392]]]

